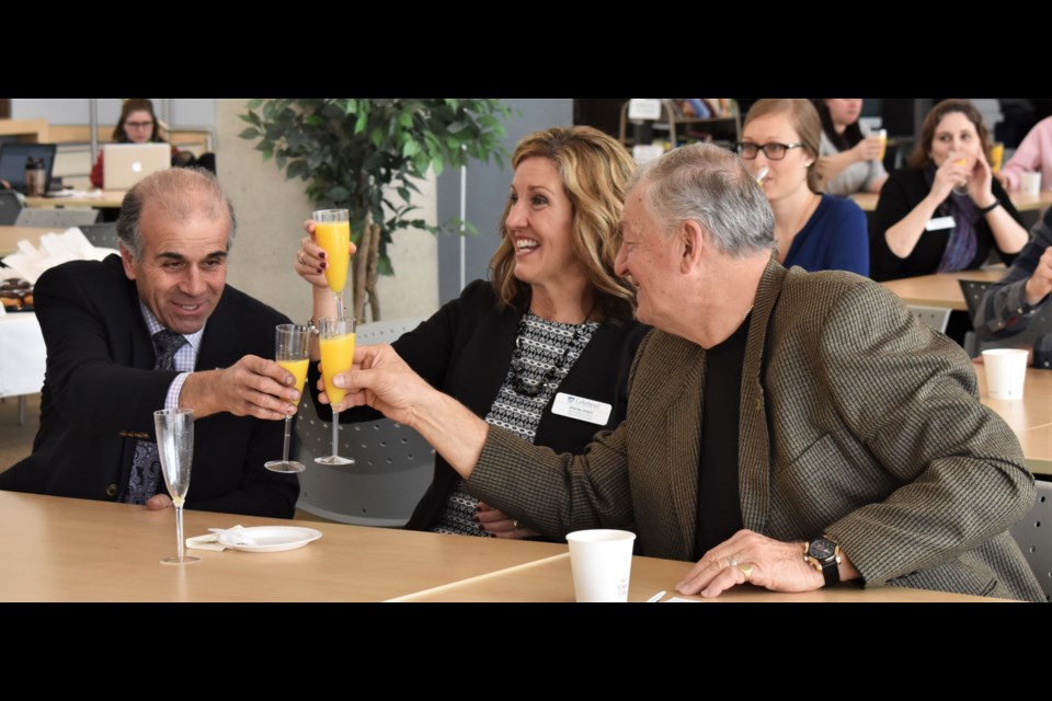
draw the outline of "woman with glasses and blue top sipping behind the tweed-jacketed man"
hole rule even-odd
[[[745,116],[741,154],[775,212],[778,262],[869,275],[866,215],[819,192],[819,114],[807,100],[761,100]]]

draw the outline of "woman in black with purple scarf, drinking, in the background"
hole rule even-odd
[[[975,268],[990,252],[1010,263],[1029,237],[990,169],[990,133],[967,100],[924,120],[910,168],[892,173],[872,218],[874,280]]]

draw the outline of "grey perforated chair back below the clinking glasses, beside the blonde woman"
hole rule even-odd
[[[362,324],[359,345],[390,343],[415,329],[420,319]],[[323,466],[315,458],[332,453],[332,425],[318,418],[307,398],[296,422],[299,502],[305,512],[343,524],[400,528],[431,484],[435,451],[415,430],[387,418],[340,422],[340,455],[348,466]]]

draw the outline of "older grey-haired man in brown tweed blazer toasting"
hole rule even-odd
[[[1007,532],[1033,476],[960,347],[870,280],[781,267],[766,197],[721,149],[640,169],[622,225],[618,273],[656,329],[627,420],[583,456],[487,426],[385,347],[357,354],[348,402],[413,426],[469,492],[549,536],[634,522],[644,554],[698,560],[685,594],[860,578],[1041,598]]]

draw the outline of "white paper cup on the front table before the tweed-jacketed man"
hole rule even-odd
[[[578,530],[567,536],[579,602],[628,600],[633,540],[636,533],[627,530]]]

